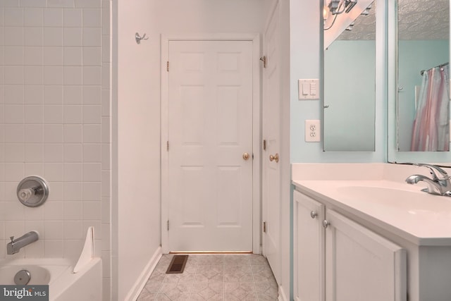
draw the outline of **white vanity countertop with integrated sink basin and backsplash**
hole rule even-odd
[[[324,167],[323,165],[328,164],[321,165]],[[326,177],[326,180],[320,180],[317,176],[309,177],[305,176],[306,173],[293,170],[293,174],[304,176],[293,178],[292,183],[296,190],[333,207],[344,209],[416,245],[451,246],[451,197],[422,192],[421,189],[426,186],[421,183],[405,183],[405,178],[402,177],[405,174],[418,173],[418,167],[410,166],[416,168],[413,169],[416,172],[411,173],[411,170],[407,168],[406,171],[403,166],[400,176],[402,180],[386,180],[385,178],[390,177],[397,179],[397,171],[391,170],[395,168],[393,164],[385,165],[382,167],[385,171],[377,173],[379,176],[365,177],[361,173],[359,178],[364,180],[354,180],[349,176],[344,177],[346,180],[337,180],[340,177],[336,174]],[[307,166],[307,169],[306,166],[297,166],[299,167],[304,168],[308,175],[312,166]],[[340,167],[345,165],[341,164]],[[351,166],[350,170],[354,167]],[[362,164],[359,164],[359,168],[362,168]],[[384,173],[390,176],[381,176]]]

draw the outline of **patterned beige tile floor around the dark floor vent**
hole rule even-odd
[[[190,254],[183,274],[166,274],[173,254],[163,254],[137,301],[277,300],[278,286],[256,254]]]

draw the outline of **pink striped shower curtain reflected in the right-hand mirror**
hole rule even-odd
[[[450,148],[449,65],[426,70],[412,131],[414,152],[447,152]]]

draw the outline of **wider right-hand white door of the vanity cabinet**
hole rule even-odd
[[[326,301],[406,301],[406,250],[326,209]]]

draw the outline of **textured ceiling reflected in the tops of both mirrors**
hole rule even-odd
[[[376,1],[368,16],[359,16],[352,31],[342,32],[338,39],[375,39]],[[449,39],[449,0],[399,0],[399,39]]]

